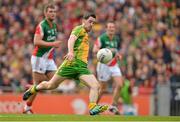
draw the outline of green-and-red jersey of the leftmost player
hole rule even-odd
[[[36,27],[35,34],[41,35],[43,37],[43,41],[54,42],[57,36],[57,26],[53,22],[52,27],[50,27],[48,21],[44,19]],[[37,57],[45,57],[51,59],[53,58],[53,52],[53,47],[35,46],[33,55]]]

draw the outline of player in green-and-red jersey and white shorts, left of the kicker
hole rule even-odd
[[[49,80],[57,70],[53,60],[54,48],[60,46],[61,41],[56,40],[57,26],[54,23],[56,7],[54,4],[47,4],[44,8],[45,18],[36,27],[34,35],[34,50],[31,57],[32,77],[34,84]],[[32,103],[36,94],[32,95],[24,106],[23,113],[32,114]]]

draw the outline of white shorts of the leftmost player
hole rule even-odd
[[[57,66],[53,59],[31,56],[31,66],[33,72],[46,73],[46,71],[56,71]]]

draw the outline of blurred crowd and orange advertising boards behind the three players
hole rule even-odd
[[[122,41],[121,70],[132,83],[138,115],[180,115],[178,0],[55,2],[58,6],[58,39],[64,42],[56,50],[58,65],[67,52],[71,29],[80,23],[84,12],[95,10],[98,23],[90,36],[91,47],[97,36],[105,31],[105,23],[115,20],[117,34]],[[45,3],[48,0],[0,0],[0,113],[22,111],[21,93],[27,84],[32,83],[30,56],[33,33],[36,24],[43,19]],[[95,73],[96,59],[91,51],[92,48],[89,67]],[[80,104],[85,108],[88,100],[88,89],[82,85],[75,86],[74,82],[67,82],[53,91],[53,94],[48,92],[39,95],[34,105],[35,113],[86,113],[72,109],[71,101],[74,99],[78,100],[76,106]],[[108,92],[112,92],[111,84]],[[110,103],[111,96],[104,96],[102,102]],[[66,103],[68,108],[62,109]],[[57,106],[53,107],[55,104]]]

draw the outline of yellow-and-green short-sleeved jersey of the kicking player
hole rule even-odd
[[[74,54],[75,58],[79,59],[85,63],[88,62],[88,53],[89,53],[89,37],[88,33],[82,25],[76,26],[71,34],[77,37],[77,40],[74,44]]]

